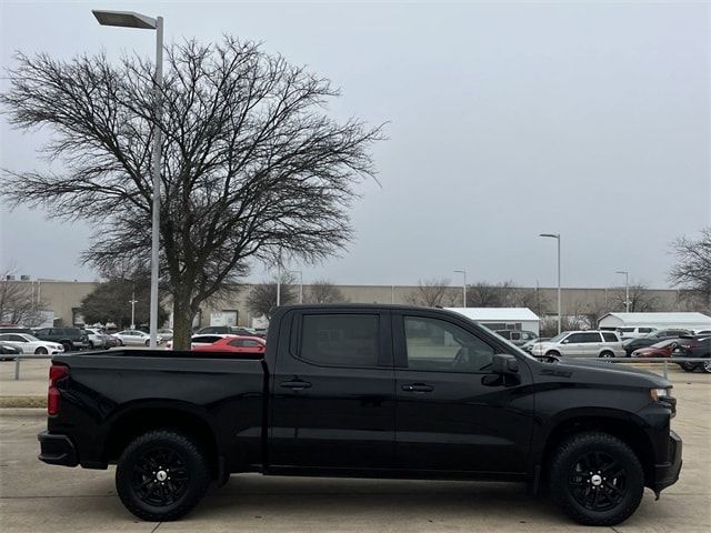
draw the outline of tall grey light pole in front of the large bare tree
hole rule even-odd
[[[160,148],[161,129],[158,117],[161,110],[161,87],[163,84],[163,18],[146,17],[133,11],[91,11],[101,26],[119,26],[121,28],[139,28],[156,30],[156,78],[154,78],[154,113],[153,132],[153,209],[151,222],[151,298],[150,298],[150,348],[156,348],[158,336],[158,252],[160,247]]]

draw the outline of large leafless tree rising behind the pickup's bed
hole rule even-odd
[[[349,242],[353,185],[374,175],[370,148],[382,135],[328,117],[339,95],[329,80],[230,37],[168,47],[160,88],[137,58],[16,59],[0,103],[17,128],[52,131],[44,153],[62,170],[4,171],[0,193],[11,207],[94,223],[83,261],[100,271],[149,263],[161,130],[160,275],[176,348],[189,345],[200,304],[239,286],[254,261],[308,264]]]

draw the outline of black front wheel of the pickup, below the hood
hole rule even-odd
[[[555,452],[550,489],[555,504],[574,521],[610,526],[629,519],[639,506],[644,473],[624,442],[602,432],[579,433]]]

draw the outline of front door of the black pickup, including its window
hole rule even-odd
[[[533,428],[531,374],[488,371],[504,350],[471,324],[394,314],[395,459],[403,469],[524,472]]]

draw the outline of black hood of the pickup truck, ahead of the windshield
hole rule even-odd
[[[559,363],[542,364],[541,373],[568,378],[571,381],[650,389],[671,386],[671,383],[659,374],[632,365],[610,363],[607,360],[581,361],[563,358]]]

